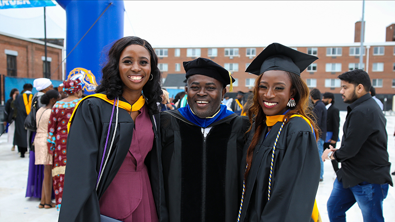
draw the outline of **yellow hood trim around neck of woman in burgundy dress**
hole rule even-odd
[[[77,103],[76,107],[74,108],[74,111],[73,111],[73,113],[72,113],[71,116],[70,116],[70,120],[69,120],[69,122],[67,123],[67,132],[69,132],[69,130],[70,130],[70,125],[71,125],[71,122],[72,122],[72,120],[73,120],[74,113],[76,113],[76,110],[77,110],[79,104],[80,104],[83,100],[85,100],[85,99],[87,99],[87,98],[90,98],[90,97],[100,98],[100,99],[106,101],[107,103],[114,104],[114,100],[109,100],[109,99],[107,98],[107,95],[105,95],[105,94],[97,93],[97,94],[92,94],[92,95],[89,95],[89,96],[85,96],[82,100],[80,100],[80,101]],[[124,110],[126,110],[126,111],[128,111],[128,112],[129,112],[129,111],[130,111],[130,112],[139,111],[139,110],[144,106],[144,104],[145,104],[145,99],[144,99],[143,96],[140,96],[140,98],[139,98],[133,105],[130,105],[129,103],[126,103],[126,102],[123,102],[123,101],[120,101],[120,100],[119,100],[119,108],[124,109]],[[117,106],[117,104],[116,104],[116,106]],[[100,108],[99,108],[99,109],[100,109]]]

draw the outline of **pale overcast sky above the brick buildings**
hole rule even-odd
[[[124,36],[142,37],[154,47],[352,43],[355,22],[362,18],[361,0],[130,0],[124,5]],[[57,4],[46,11],[47,37],[65,38],[64,9]],[[365,42],[384,42],[386,27],[395,23],[395,0],[366,0],[364,19]],[[0,10],[0,32],[43,38],[43,30],[43,8]]]

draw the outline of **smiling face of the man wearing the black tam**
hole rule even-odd
[[[212,116],[220,109],[226,93],[222,83],[206,75],[192,75],[188,78],[188,104],[200,118]]]

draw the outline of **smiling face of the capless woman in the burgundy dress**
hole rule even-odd
[[[119,57],[119,75],[125,87],[123,94],[141,93],[151,74],[151,56],[141,45],[129,45]]]

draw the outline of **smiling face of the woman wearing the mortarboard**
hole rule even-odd
[[[287,103],[295,91],[286,72],[266,71],[259,80],[259,104],[266,115],[280,115],[288,110]]]

